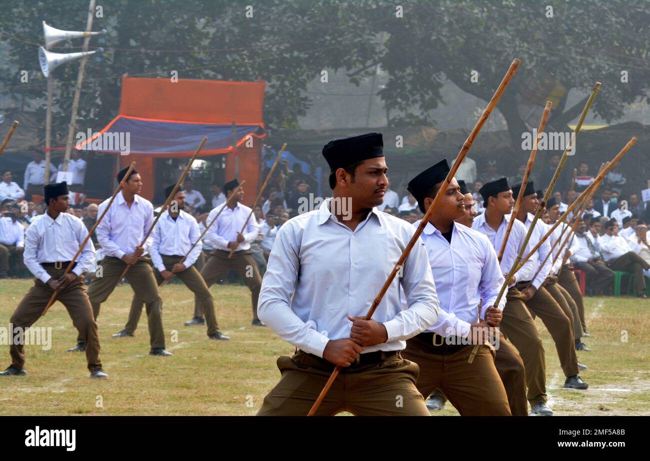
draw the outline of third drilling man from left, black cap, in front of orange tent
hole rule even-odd
[[[172,193],[174,187],[175,185],[172,184],[165,188],[165,197]],[[179,187],[170,206],[153,228],[153,243],[151,243],[149,251],[155,268],[154,275],[159,286],[163,280],[171,280],[174,275],[181,279],[190,292],[194,293],[196,301],[200,303],[201,312],[205,309],[208,338],[227,341],[230,338],[219,331],[214,314],[214,299],[210,290],[205,285],[205,280],[201,278],[199,271],[194,267],[203,246],[199,240],[199,226],[192,215],[183,211],[183,206],[185,206],[185,192],[182,187]],[[192,248],[194,242],[198,243]],[[183,260],[188,252],[187,259]],[[181,260],[183,261],[181,262]],[[113,338],[133,336],[133,332],[138,327],[143,305],[144,302],[134,295],[133,301],[131,301],[129,320],[122,331],[112,335]]]

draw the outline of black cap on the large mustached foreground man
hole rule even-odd
[[[331,140],[323,146],[322,155],[330,165],[330,171],[367,158],[383,157],[382,133],[370,132]]]

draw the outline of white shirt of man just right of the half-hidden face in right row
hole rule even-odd
[[[506,230],[508,229],[508,223],[510,223],[510,218],[512,218],[512,214],[506,214],[502,221],[501,224],[499,225],[499,229],[495,231],[486,222],[486,216],[485,214],[480,214],[479,216],[476,216],[474,218],[474,222],[472,223],[472,229],[474,231],[478,231],[484,235],[487,236],[487,240],[492,244],[492,247],[495,249],[496,252],[501,251],[501,246],[503,245],[503,239],[506,236]],[[519,249],[521,249],[521,245],[523,245],[523,242],[526,238],[526,226],[523,225],[523,223],[517,219],[515,219],[515,222],[512,224],[512,229],[510,230],[510,236],[508,237],[508,243],[506,243],[506,249],[503,252],[503,257],[501,258],[501,274],[507,273],[510,268],[512,268],[512,265],[515,262],[515,259],[517,258],[517,254],[519,253]],[[523,256],[527,255],[530,253],[530,250],[532,247],[530,246],[530,243],[526,245],[526,249],[523,252]],[[514,275],[515,277],[515,283],[518,282],[519,280],[526,280],[525,277],[532,277],[534,274],[533,272],[533,263],[531,260],[528,260],[525,262],[523,267],[519,269]],[[513,285],[510,285],[513,286]]]

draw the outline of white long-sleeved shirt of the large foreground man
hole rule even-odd
[[[259,293],[257,314],[283,340],[322,357],[328,341],[350,337],[348,316],[365,316],[415,228],[372,208],[352,231],[317,209],[289,219],[278,231]],[[438,299],[422,240],[418,240],[372,318],[385,343],[363,353],[398,351],[437,320]],[[408,302],[400,303],[400,285]]]

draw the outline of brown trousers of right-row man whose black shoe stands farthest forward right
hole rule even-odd
[[[521,282],[517,286],[525,287],[528,284],[529,282]],[[541,318],[541,321],[544,322],[549,333],[551,333],[564,375],[566,377],[577,375],[578,358],[575,355],[573,326],[571,325],[570,316],[564,313],[562,307],[556,303],[543,286],[540,286],[535,295],[526,301],[526,306],[530,312]]]

